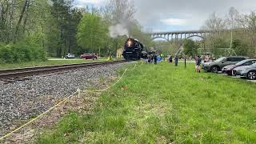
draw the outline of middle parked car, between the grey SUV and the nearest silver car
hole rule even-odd
[[[236,63],[235,65],[230,65],[230,66],[224,66],[222,68],[222,73],[223,74],[228,74],[228,75],[233,75],[233,70],[239,66],[250,66],[256,63],[256,59],[246,59],[241,62]]]

